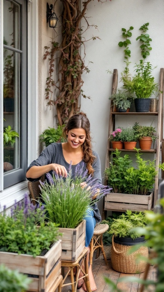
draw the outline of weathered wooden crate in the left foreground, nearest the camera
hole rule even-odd
[[[54,292],[61,274],[61,240],[58,240],[44,256],[33,256],[18,253],[0,252],[0,264],[12,270],[27,274],[32,282],[30,292]]]

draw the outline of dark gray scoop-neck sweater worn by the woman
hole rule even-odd
[[[97,178],[97,182],[101,183],[101,165],[100,165],[100,158],[99,155],[93,151],[93,155],[96,157],[95,161],[93,162],[93,169],[94,169],[94,176],[93,178]],[[51,163],[56,163],[64,166],[67,171],[69,169],[69,163],[65,161],[63,151],[62,151],[62,143],[52,143],[48,147],[46,147],[41,154],[39,155],[38,159],[34,160],[29,167],[27,168],[27,171],[32,167],[32,166],[43,166]],[[86,163],[82,160],[79,162],[79,164],[83,166],[83,173],[86,171]],[[76,165],[72,165],[72,177],[74,177]],[[49,172],[52,175],[52,171]],[[39,180],[39,178],[33,179],[33,178],[27,178],[29,181],[34,182],[36,180]],[[99,223],[101,221],[101,216],[99,209],[97,208],[97,204],[94,204],[92,206],[93,208],[93,213],[94,213],[94,218],[96,220],[96,223]]]

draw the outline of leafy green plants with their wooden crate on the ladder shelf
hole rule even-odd
[[[137,166],[131,165],[130,156],[121,156],[121,151],[113,152],[113,163],[105,169],[108,185],[113,189],[105,197],[105,209],[113,206],[115,210],[126,210],[128,206],[132,211],[150,210],[153,206],[153,184],[156,176],[155,160],[144,160],[142,153],[136,149]],[[164,164],[158,165],[164,169]],[[124,195],[125,194],[125,195]]]

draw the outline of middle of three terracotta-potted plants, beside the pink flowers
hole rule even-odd
[[[137,135],[132,126],[122,129],[121,141],[124,142],[126,150],[133,150],[136,147]]]

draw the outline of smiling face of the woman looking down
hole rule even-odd
[[[86,131],[83,128],[71,129],[67,135],[68,143],[74,149],[80,147],[86,139]]]

